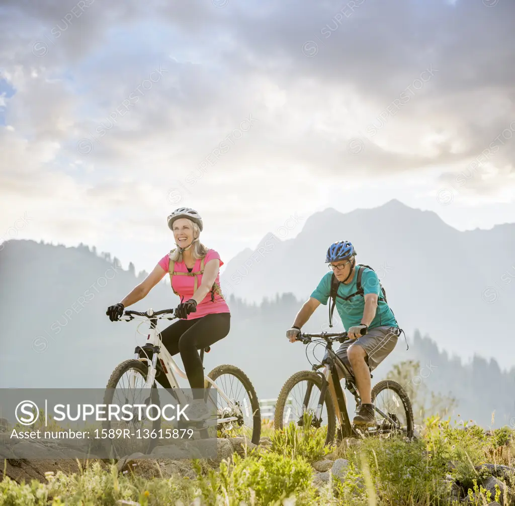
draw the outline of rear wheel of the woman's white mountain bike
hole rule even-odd
[[[208,376],[217,386],[218,437],[245,437],[258,445],[261,411],[258,396],[247,375],[238,367],[226,364],[215,367]],[[212,393],[210,389],[214,389],[214,386],[205,380],[204,388],[206,398],[209,399]]]

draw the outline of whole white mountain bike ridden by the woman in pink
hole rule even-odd
[[[186,399],[184,392],[180,389],[177,379],[174,375],[177,373],[181,378],[187,379],[186,373],[179,368],[168,350],[163,346],[161,334],[157,329],[157,321],[159,319],[173,320],[173,309],[165,309],[162,311],[153,311],[148,309],[147,312],[125,311],[124,315],[118,318],[126,322],[133,319],[139,319],[141,323],[150,323],[147,342],[143,346],[136,346],[134,350],[134,358],[125,360],[119,364],[111,374],[106,387],[104,397],[105,404],[116,404],[113,397],[117,398],[121,403],[137,403],[141,401],[141,392],[150,392],[144,399],[149,404],[159,406],[159,393],[156,385],[156,374],[164,374],[172,390],[169,392],[179,401],[180,404],[186,404],[191,399]],[[204,352],[209,352],[210,347],[200,351],[200,358],[203,361]],[[210,395],[210,389],[216,389],[216,413],[217,413],[217,436],[218,437],[246,437],[247,440],[254,444],[258,444],[261,435],[261,413],[254,387],[247,375],[234,365],[219,365],[215,367],[207,376],[204,376],[204,399],[213,403],[214,396]],[[189,389],[189,385],[188,385]],[[139,394],[139,395],[138,395]],[[120,398],[122,397],[122,398]],[[133,402],[130,402],[130,400]],[[212,406],[214,412],[214,406]],[[135,421],[131,421],[131,430],[138,430],[134,427]],[[152,432],[159,433],[161,428],[161,418],[148,421],[151,423]],[[116,422],[117,427],[119,422]],[[104,428],[114,429],[114,424],[107,421]],[[140,429],[141,430],[141,429]],[[114,444],[115,440],[113,440]],[[127,442],[124,442],[125,450]],[[142,453],[150,453],[156,446],[156,438],[147,438],[135,440],[134,444],[138,447],[132,447],[131,451],[141,451]]]

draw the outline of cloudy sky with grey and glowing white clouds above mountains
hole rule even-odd
[[[179,206],[227,260],[295,213],[392,198],[515,222],[514,20],[511,0],[3,0],[0,237],[149,271]]]

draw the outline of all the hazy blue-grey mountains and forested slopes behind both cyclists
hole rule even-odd
[[[277,397],[291,374],[310,369],[305,347],[290,344],[285,330],[326,272],[328,244],[346,238],[356,246],[358,261],[378,273],[410,345],[406,350],[400,338],[373,381],[394,363],[418,360],[425,384],[455,396],[462,417],[490,425],[494,411],[495,425],[515,423],[508,311],[515,293],[508,282],[515,276],[514,231],[507,224],[460,232],[434,213],[398,201],[348,214],[314,214],[294,239],[267,235],[227,263],[221,285],[231,331],[205,356],[205,369],[241,367],[260,398]],[[131,358],[146,336],[144,326],[140,335],[134,323],[110,322],[106,309],[146,273],[136,275],[132,264],[122,269],[109,253],[83,244],[10,240],[3,246],[0,387],[104,388],[114,367]],[[131,309],[159,310],[178,301],[165,277]],[[305,330],[328,330],[327,311],[321,306]],[[337,317],[334,330],[344,330]],[[307,351],[311,361],[313,351],[321,357],[320,348]]]

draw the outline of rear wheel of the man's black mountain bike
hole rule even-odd
[[[375,407],[373,431],[377,435],[413,437],[413,409],[408,394],[399,383],[392,380],[377,383],[372,389],[372,404]]]

